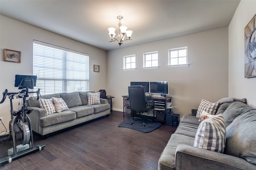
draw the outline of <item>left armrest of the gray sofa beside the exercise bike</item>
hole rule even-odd
[[[32,110],[30,114],[28,114],[28,117],[31,121],[31,128],[32,131],[35,131],[36,133],[39,133],[39,126],[40,126],[40,117],[46,116],[46,110],[39,108],[39,107],[28,107],[28,109]]]

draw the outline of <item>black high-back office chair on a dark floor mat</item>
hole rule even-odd
[[[144,86],[129,86],[128,87],[129,99],[130,99],[130,109],[140,112],[140,117],[133,117],[130,125],[136,120],[141,120],[143,122],[142,127],[145,127],[144,120],[152,121],[151,119],[142,119],[143,112],[149,112],[154,108],[151,100],[148,102],[146,100],[145,87]],[[134,119],[135,118],[135,119]],[[153,121],[152,121],[153,123]]]

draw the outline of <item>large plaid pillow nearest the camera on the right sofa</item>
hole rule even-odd
[[[202,121],[197,129],[194,147],[223,153],[226,143],[226,126],[222,114]]]

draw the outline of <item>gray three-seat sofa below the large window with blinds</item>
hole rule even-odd
[[[57,93],[41,96],[40,98],[50,99],[52,97],[62,98],[69,109],[60,113],[46,115],[46,110],[40,108],[39,101],[36,98],[29,97],[26,100],[28,109],[33,109],[28,115],[31,120],[32,131],[42,135],[44,138],[49,133],[105,115],[108,117],[110,114],[110,104],[106,99],[100,99],[100,104],[87,105],[88,92]]]

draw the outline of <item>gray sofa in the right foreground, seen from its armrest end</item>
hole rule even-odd
[[[193,147],[197,109],[184,115],[158,161],[158,170],[255,170],[256,109],[242,102],[220,104],[226,125],[224,153]]]

